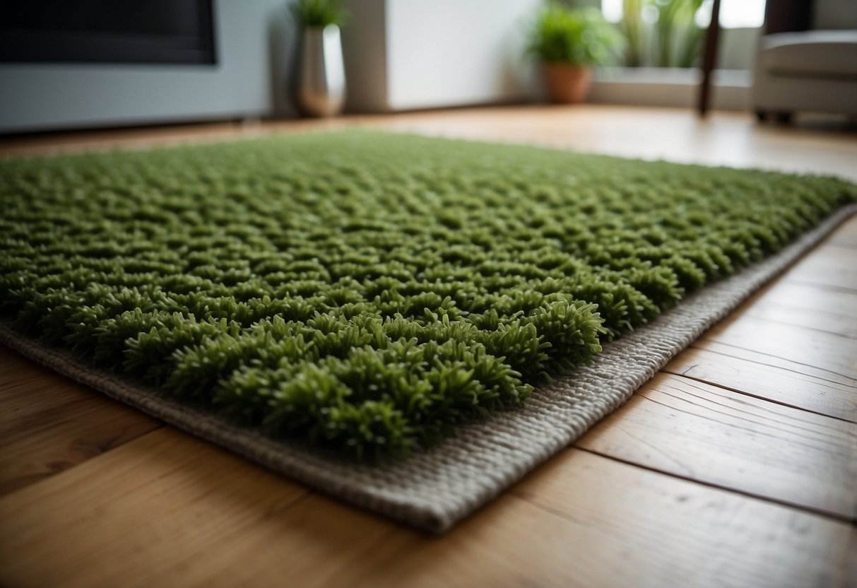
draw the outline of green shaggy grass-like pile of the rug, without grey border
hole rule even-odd
[[[854,184],[369,131],[0,162],[17,332],[357,459],[526,402]]]

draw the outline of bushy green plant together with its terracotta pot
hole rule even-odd
[[[530,31],[528,51],[542,63],[548,98],[574,104],[589,91],[592,66],[609,63],[620,45],[620,33],[600,10],[548,2]]]

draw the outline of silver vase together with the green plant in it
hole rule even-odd
[[[339,27],[348,13],[341,0],[297,0],[291,15],[301,28],[297,104],[304,114],[332,117],[345,104],[345,63]]]

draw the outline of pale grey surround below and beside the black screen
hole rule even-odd
[[[2,64],[0,132],[291,112],[284,0],[215,0],[219,63]]]

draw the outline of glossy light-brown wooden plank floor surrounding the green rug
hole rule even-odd
[[[18,137],[0,153],[374,125],[857,179],[825,126],[617,107]],[[444,537],[0,349],[0,585],[857,585],[857,218]]]

